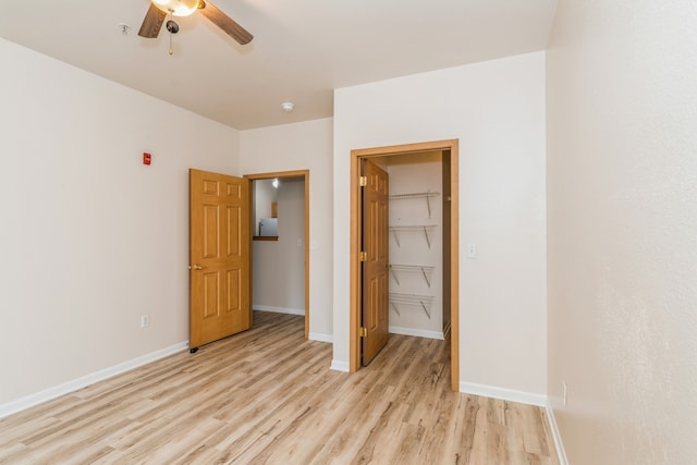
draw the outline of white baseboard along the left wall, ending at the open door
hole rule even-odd
[[[160,358],[164,358],[186,348],[188,348],[188,341],[180,342],[179,344],[174,344],[169,347],[143,355],[140,357],[111,366],[109,368],[95,371],[93,374],[83,376],[72,381],[64,382],[53,388],[46,389],[35,394],[26,395],[24,397],[17,399],[16,401],[0,404],[0,418],[50,401],[51,399],[60,397],[61,395],[69,394],[71,392],[77,391],[78,389],[83,389],[96,382],[103,381],[117,375],[121,375],[134,368],[149,364],[151,362],[159,360]]]

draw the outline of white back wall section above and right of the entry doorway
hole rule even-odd
[[[309,170],[309,336],[332,338],[332,119],[240,133],[243,174]]]

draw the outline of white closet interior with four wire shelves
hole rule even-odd
[[[389,331],[444,339],[450,308],[443,270],[449,264],[447,235],[450,196],[443,152],[379,158],[389,174]]]

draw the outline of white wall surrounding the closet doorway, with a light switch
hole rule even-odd
[[[334,362],[348,360],[351,150],[449,138],[460,139],[461,387],[543,394],[543,52],[335,91]]]

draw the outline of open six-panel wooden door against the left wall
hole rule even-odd
[[[249,304],[249,181],[189,170],[189,347],[245,331]]]

